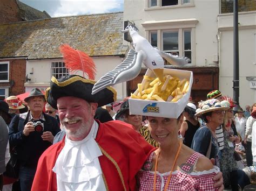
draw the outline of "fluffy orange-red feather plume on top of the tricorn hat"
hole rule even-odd
[[[84,73],[86,73],[90,80],[95,80],[96,66],[89,55],[77,49],[73,49],[66,44],[61,45],[59,48],[64,58],[65,67],[69,69],[70,72],[81,70],[83,76]]]

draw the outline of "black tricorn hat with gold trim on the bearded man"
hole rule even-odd
[[[50,88],[46,89],[45,99],[52,108],[57,109],[57,100],[60,97],[73,96],[87,102],[98,103],[98,107],[116,101],[117,92],[112,87],[104,88],[92,95],[94,80],[85,79],[79,75],[67,75],[56,79],[52,76]]]

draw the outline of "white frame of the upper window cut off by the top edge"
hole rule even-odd
[[[150,9],[169,9],[169,8],[181,8],[184,6],[194,6],[194,0],[190,0],[190,3],[184,3],[184,0],[178,0],[177,5],[169,5],[169,6],[162,6],[162,0],[157,0],[157,5],[156,6],[151,6],[151,0],[146,0],[145,1],[145,10],[150,10]]]

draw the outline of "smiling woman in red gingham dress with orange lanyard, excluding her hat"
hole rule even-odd
[[[219,168],[178,138],[182,113],[178,118],[147,116],[147,121],[159,147],[138,173],[139,190],[215,190],[212,178]]]

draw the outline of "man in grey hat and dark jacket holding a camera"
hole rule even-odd
[[[22,191],[31,190],[38,159],[60,131],[56,118],[43,112],[45,98],[41,90],[33,88],[24,101],[30,111],[16,115],[9,125],[10,147],[15,148],[20,163]]]

